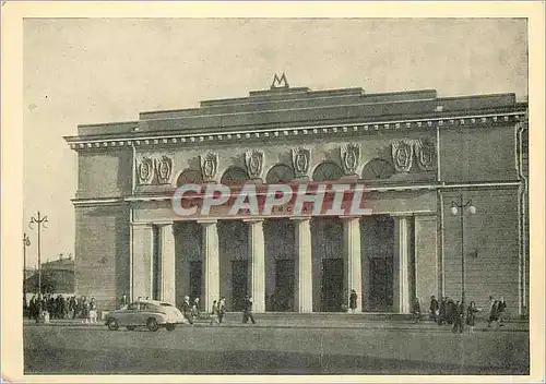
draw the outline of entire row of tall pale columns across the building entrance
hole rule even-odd
[[[312,312],[312,250],[310,218],[294,218],[295,226],[295,307],[298,312]],[[245,220],[249,225],[249,292],[253,299],[252,309],[265,312],[265,241],[263,220]],[[219,242],[216,220],[199,221],[203,226],[202,262],[204,284],[204,305],[212,307],[219,298]],[[157,226],[159,249],[155,250],[161,260],[161,298],[176,301],[176,252],[173,224]],[[153,274],[146,274],[146,253],[154,254],[152,226],[133,225],[132,230],[132,296],[147,297],[153,287]],[[343,217],[344,265],[347,291],[358,295],[357,312],[361,311],[361,239],[358,217]],[[150,248],[149,248],[150,247]],[[153,257],[151,257],[153,259]],[[153,264],[153,261],[150,260]],[[408,313],[410,303],[410,228],[407,217],[396,217],[394,250],[394,310]],[[149,276],[149,284],[135,284],[136,276]],[[145,281],[144,281],[145,283]],[[347,298],[348,299],[348,298]]]

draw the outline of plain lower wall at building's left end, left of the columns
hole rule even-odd
[[[75,290],[99,309],[130,291],[129,231],[124,205],[75,208]]]

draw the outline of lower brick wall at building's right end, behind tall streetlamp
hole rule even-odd
[[[488,309],[488,298],[505,297],[510,315],[518,315],[519,236],[518,189],[465,191],[476,214],[464,212],[466,301]],[[461,229],[459,216],[450,213],[459,193],[444,193],[446,295],[461,298]]]

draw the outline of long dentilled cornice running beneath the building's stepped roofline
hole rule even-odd
[[[252,140],[275,140],[278,137],[336,137],[344,134],[373,134],[378,131],[402,131],[402,130],[419,130],[419,129],[483,129],[501,125],[507,123],[517,123],[525,119],[525,111],[499,112],[487,115],[462,115],[453,117],[435,117],[422,119],[402,119],[402,120],[378,120],[373,122],[361,123],[337,123],[337,124],[318,124],[318,125],[296,125],[289,128],[261,128],[250,130],[232,130],[225,131],[218,129],[209,132],[185,133],[178,131],[174,133],[156,133],[150,132],[143,135],[139,132],[126,133],[118,137],[104,135],[104,137],[94,136],[66,136],[70,147],[75,151],[86,149],[111,149],[111,148],[130,148],[153,147],[156,145],[195,145],[195,144],[212,144],[212,143],[229,143]]]

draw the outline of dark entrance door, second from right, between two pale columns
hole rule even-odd
[[[340,312],[343,304],[343,259],[322,261],[322,311]]]

